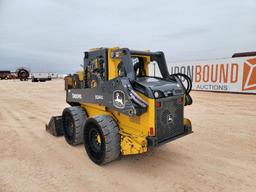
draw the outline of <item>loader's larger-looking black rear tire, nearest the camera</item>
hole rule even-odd
[[[94,163],[103,165],[120,156],[119,129],[110,115],[88,118],[83,135],[85,150]]]

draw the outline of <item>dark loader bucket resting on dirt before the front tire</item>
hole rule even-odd
[[[62,116],[53,116],[50,119],[48,125],[45,125],[46,131],[48,131],[51,135],[58,137],[63,135],[63,124],[62,124]]]

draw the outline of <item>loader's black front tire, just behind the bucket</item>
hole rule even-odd
[[[85,111],[79,107],[67,107],[62,113],[63,134],[70,145],[83,143],[83,127],[87,119]]]

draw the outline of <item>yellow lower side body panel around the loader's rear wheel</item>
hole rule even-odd
[[[86,110],[89,117],[111,115],[120,129],[121,153],[123,155],[138,154],[147,151],[146,137],[149,135],[149,128],[152,127],[155,130],[155,101],[145,96],[143,99],[149,103],[148,112],[138,117],[130,117],[98,104],[83,103],[81,107]]]

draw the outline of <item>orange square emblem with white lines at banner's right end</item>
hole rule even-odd
[[[256,58],[244,63],[242,90],[256,90]]]

